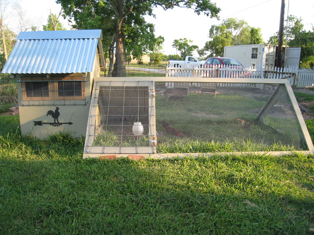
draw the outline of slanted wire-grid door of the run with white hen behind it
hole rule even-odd
[[[94,85],[84,157],[156,153],[152,81],[99,81]]]

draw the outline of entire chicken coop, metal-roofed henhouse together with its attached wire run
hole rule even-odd
[[[314,151],[286,79],[102,69],[101,30],[21,32],[2,73],[17,78],[22,134],[85,135],[83,158]]]

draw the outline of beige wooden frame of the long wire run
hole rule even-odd
[[[106,77],[102,77],[102,78],[96,78],[95,79],[95,83],[102,83],[102,82],[110,82],[112,81],[112,78],[106,78]],[[295,99],[295,96],[293,94],[293,91],[291,89],[290,83],[288,80],[286,79],[263,79],[263,78],[256,78],[256,79],[250,79],[250,78],[191,78],[191,77],[131,77],[131,78],[126,78],[126,77],[115,77],[114,78],[114,82],[130,82],[130,83],[134,83],[134,82],[191,82],[191,83],[196,83],[196,82],[210,82],[210,83],[252,83],[252,84],[274,84],[274,85],[279,85],[276,92],[272,95],[272,97],[270,98],[270,100],[266,103],[266,105],[263,107],[263,109],[261,110],[258,118],[260,121],[263,121],[263,117],[267,114],[267,112],[269,112],[270,107],[272,105],[274,105],[274,100],[276,98],[278,98],[280,96],[280,94],[282,92],[287,92],[288,94],[288,98],[291,102],[291,106],[292,109],[296,115],[296,119],[298,122],[298,125],[300,127],[301,130],[301,135],[302,138],[304,139],[304,141],[306,142],[307,145],[307,149],[306,151],[276,151],[276,152],[229,152],[229,153],[164,153],[164,154],[160,154],[160,153],[156,153],[156,151],[151,152],[151,148],[150,148],[150,152],[134,152],[133,149],[131,148],[126,148],[124,149],[123,152],[121,153],[117,153],[116,151],[113,151],[112,153],[103,153],[101,151],[101,148],[97,148],[97,149],[88,149],[88,147],[86,147],[87,145],[91,146],[90,143],[90,136],[91,136],[91,132],[93,132],[94,130],[92,130],[92,128],[90,127],[91,122],[96,121],[93,118],[95,118],[95,113],[97,112],[97,109],[95,108],[97,106],[97,99],[95,98],[98,97],[96,91],[93,91],[93,97],[92,97],[92,101],[91,101],[91,106],[90,106],[90,112],[89,112],[89,119],[88,119],[88,126],[87,126],[87,131],[86,131],[86,140],[85,140],[85,147],[84,147],[84,153],[83,153],[83,158],[95,158],[95,157],[100,157],[100,156],[110,156],[112,154],[114,154],[116,157],[127,157],[128,155],[132,155],[132,154],[140,154],[141,156],[145,156],[147,158],[173,158],[173,157],[206,157],[206,156],[212,156],[212,155],[221,155],[221,154],[231,154],[231,155],[235,155],[235,154],[258,154],[258,155],[285,155],[285,154],[294,154],[294,153],[304,153],[304,154],[313,154],[314,153],[314,146],[313,146],[313,142],[311,140],[310,134],[307,130],[305,121],[302,117],[301,111],[298,107],[298,103]],[[94,89],[95,89],[96,85],[94,85]],[[153,89],[154,89],[154,85],[153,85]],[[155,91],[151,91],[152,94],[155,94]],[[152,105],[155,107],[155,99],[153,99],[153,103]],[[154,116],[154,115],[153,115]],[[154,123],[155,122],[155,123]],[[154,116],[154,118],[151,120],[151,125],[155,126],[156,128],[156,118]],[[155,129],[156,132],[156,129]],[[152,133],[154,134],[154,133]],[[97,152],[98,151],[98,152]]]

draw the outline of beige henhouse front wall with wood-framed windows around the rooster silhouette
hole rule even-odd
[[[66,83],[52,80],[52,77],[64,77],[71,75],[80,77],[79,81],[68,81]],[[59,132],[69,133],[73,137],[80,137],[86,133],[88,119],[89,102],[91,97],[91,81],[93,74],[18,74],[18,97],[20,110],[20,124],[23,135],[34,135],[40,139]],[[57,78],[59,79],[59,78]],[[25,82],[29,81],[29,82]],[[35,83],[32,83],[35,82]],[[48,84],[46,91],[31,91],[29,84]],[[77,91],[68,91],[68,82],[79,84]],[[26,85],[28,84],[28,85]],[[60,85],[64,90],[60,92]],[[71,87],[75,87],[74,85]],[[80,89],[80,91],[79,91]],[[64,95],[64,96],[60,96]],[[76,95],[76,97],[73,97]],[[53,113],[59,108],[59,117],[55,120],[49,111]],[[39,121],[36,123],[36,121]],[[53,124],[59,122],[63,124]],[[50,123],[50,124],[47,124]],[[72,124],[69,124],[72,123]]]

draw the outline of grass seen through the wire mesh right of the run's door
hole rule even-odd
[[[266,124],[257,121],[265,104],[266,101],[239,94],[217,94],[213,98],[190,93],[181,99],[167,99],[157,94],[156,129],[162,133],[157,137],[157,153],[307,149],[299,136],[297,120],[293,116],[281,116],[286,111],[265,116]],[[284,99],[278,104],[284,105]],[[239,118],[247,128],[236,121]],[[180,130],[182,136],[169,134],[163,123]]]

